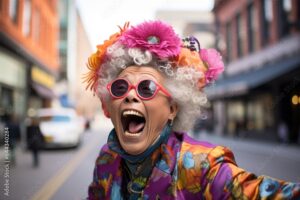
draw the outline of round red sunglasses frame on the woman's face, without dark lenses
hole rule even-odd
[[[125,92],[124,95],[118,97],[118,96],[115,96],[112,91],[111,91],[111,86],[112,84],[117,81],[117,80],[124,80],[127,84],[128,84],[128,89],[127,89],[127,92]],[[138,86],[139,84],[142,82],[142,81],[146,81],[146,80],[149,80],[149,81],[152,81],[155,85],[156,85],[156,90],[155,92],[153,93],[153,95],[151,97],[143,97],[139,94],[138,92]],[[106,86],[108,92],[110,93],[110,95],[114,98],[114,99],[121,99],[121,98],[124,98],[131,89],[134,89],[135,90],[135,93],[137,94],[137,96],[142,99],[142,100],[150,100],[150,99],[153,99],[156,94],[158,93],[159,90],[161,90],[165,95],[167,95],[167,97],[171,98],[171,94],[163,87],[161,86],[159,83],[155,82],[154,80],[151,80],[151,79],[143,79],[143,80],[140,80],[137,84],[133,85],[131,84],[128,80],[124,79],[124,78],[118,78],[118,79],[115,79],[113,81],[111,81],[110,83],[107,84]]]

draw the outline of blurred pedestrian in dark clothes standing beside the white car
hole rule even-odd
[[[30,125],[27,127],[27,144],[32,152],[33,167],[39,166],[39,150],[43,144],[43,136],[41,134],[39,120],[36,117],[31,119]]]

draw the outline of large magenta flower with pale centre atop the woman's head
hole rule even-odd
[[[176,56],[180,52],[181,39],[173,28],[161,21],[144,22],[128,29],[120,38],[127,48],[141,48],[159,58]]]

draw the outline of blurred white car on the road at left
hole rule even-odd
[[[70,108],[38,110],[45,147],[76,147],[84,131],[84,121]]]

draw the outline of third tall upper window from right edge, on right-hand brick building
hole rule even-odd
[[[256,19],[255,9],[253,3],[248,6],[247,12],[247,22],[248,22],[248,51],[251,53],[257,49],[257,26],[258,23]]]

